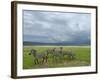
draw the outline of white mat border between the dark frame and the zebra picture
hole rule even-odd
[[[49,10],[63,12],[82,12],[91,13],[91,66],[70,67],[70,68],[48,68],[48,69],[30,69],[23,70],[23,42],[22,42],[22,9],[26,10]],[[45,74],[61,74],[61,73],[79,73],[96,71],[96,22],[95,9],[90,8],[74,8],[74,7],[58,7],[43,5],[17,5],[17,76],[45,75]]]

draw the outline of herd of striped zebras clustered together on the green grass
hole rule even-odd
[[[62,60],[64,56],[67,56],[70,59],[75,59],[75,54],[72,51],[64,51],[63,47],[48,48],[43,53],[38,53],[36,49],[31,49],[29,55],[33,55],[33,61],[35,64],[47,63],[49,55],[51,55],[55,61],[57,57]],[[40,59],[41,61],[39,61]]]

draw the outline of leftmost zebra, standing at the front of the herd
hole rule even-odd
[[[34,63],[39,64],[39,59],[42,59],[41,63],[47,62],[48,54],[47,52],[44,53],[37,53],[35,49],[31,49],[29,55],[34,56]]]

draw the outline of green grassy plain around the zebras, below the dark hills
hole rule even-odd
[[[64,56],[62,60],[57,58],[57,62],[54,61],[52,55],[49,55],[47,63],[34,64],[33,56],[29,55],[30,49],[36,49],[38,53],[43,53],[48,48],[53,48],[57,46],[28,46],[24,47],[23,55],[23,69],[34,69],[34,68],[54,68],[54,67],[76,67],[76,66],[89,66],[90,61],[90,48],[82,46],[63,46],[64,51],[71,50],[75,53],[75,59],[70,60],[67,56]],[[41,60],[40,60],[41,61]]]

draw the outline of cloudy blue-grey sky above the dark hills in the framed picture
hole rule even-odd
[[[91,14],[23,10],[23,37],[29,42],[90,40]]]

